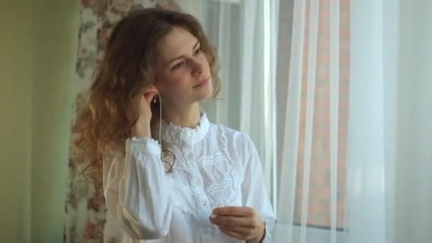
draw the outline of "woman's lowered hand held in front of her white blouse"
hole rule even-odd
[[[258,243],[264,238],[264,222],[252,207],[215,208],[210,222],[229,237],[244,239],[248,243]]]

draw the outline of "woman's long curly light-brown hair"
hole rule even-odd
[[[156,45],[175,27],[184,28],[198,38],[210,66],[212,97],[220,91],[219,65],[215,48],[197,19],[187,13],[164,9],[141,9],[129,13],[115,26],[104,57],[97,65],[94,80],[72,127],[75,163],[85,165],[85,175],[102,184],[102,163],[108,153],[125,153],[125,141],[139,117],[141,90],[155,80],[153,65]],[[151,105],[151,136],[159,138],[159,103]],[[163,161],[171,166],[175,156],[171,144],[159,141]],[[169,156],[171,154],[171,156]],[[89,176],[90,175],[90,176]]]

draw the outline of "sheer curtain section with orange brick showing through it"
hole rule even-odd
[[[275,242],[343,242],[350,1],[280,5]]]

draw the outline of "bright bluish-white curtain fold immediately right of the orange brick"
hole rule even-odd
[[[382,1],[352,3],[346,242],[385,242]],[[365,17],[368,18],[365,18]],[[367,51],[365,51],[367,50]],[[365,60],[369,60],[365,62]]]

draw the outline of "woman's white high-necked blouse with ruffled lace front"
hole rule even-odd
[[[126,156],[104,158],[107,225],[122,229],[122,242],[241,242],[210,223],[212,209],[225,206],[254,208],[266,224],[263,242],[271,242],[274,213],[249,136],[210,123],[206,114],[195,129],[162,127],[175,154],[171,173],[150,138],[128,139]]]

